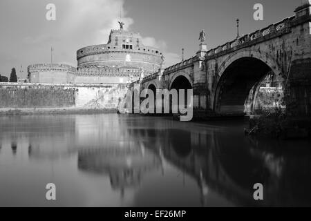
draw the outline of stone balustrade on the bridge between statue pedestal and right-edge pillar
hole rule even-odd
[[[282,21],[273,23],[272,25],[266,28],[256,30],[255,32],[252,32],[248,35],[243,35],[243,37],[234,39],[233,41],[229,41],[226,44],[223,44],[222,46],[213,48],[207,52],[207,57],[214,56],[225,50],[236,48],[236,46],[243,47],[243,45],[245,44],[251,44],[252,41],[258,41],[259,39],[268,38],[270,36],[272,37],[272,35],[281,35],[283,34],[283,32],[288,31],[288,28],[290,27],[290,21],[292,21],[292,19],[294,18],[295,18],[294,16],[285,18]]]

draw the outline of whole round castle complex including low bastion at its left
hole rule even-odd
[[[77,68],[65,64],[28,66],[31,83],[122,84],[138,79],[142,73],[155,73],[163,63],[157,48],[144,46],[136,32],[111,30],[107,44],[77,50]]]

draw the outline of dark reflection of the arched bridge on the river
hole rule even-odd
[[[305,194],[311,193],[310,151],[292,157],[291,153],[275,151],[277,146],[284,146],[277,141],[249,140],[234,131],[206,130],[200,124],[190,129],[179,122],[155,121],[155,127],[142,129],[137,128],[137,122],[129,123],[134,137],[156,141],[148,148],[156,150],[162,161],[167,160],[196,180],[203,206],[209,191],[216,191],[236,206],[310,205],[311,194]],[[301,168],[295,164],[302,164]],[[253,198],[253,186],[258,182],[265,188],[263,202]]]

